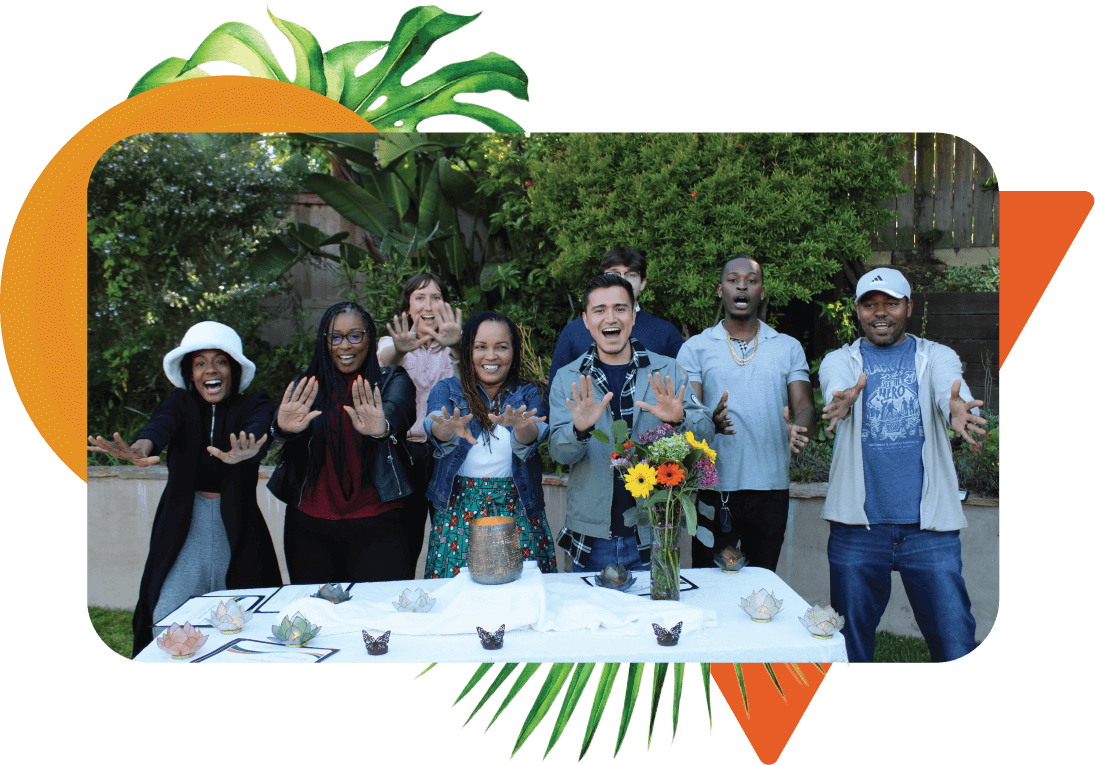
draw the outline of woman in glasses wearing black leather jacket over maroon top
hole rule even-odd
[[[401,510],[411,494],[404,460],[414,410],[407,373],[377,361],[372,317],[357,303],[327,309],[312,362],[286,389],[270,428],[286,440],[267,488],[287,506],[290,581],[404,577]]]

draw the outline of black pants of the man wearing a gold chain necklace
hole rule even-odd
[[[775,570],[787,530],[789,489],[700,491],[700,500],[715,508],[715,520],[702,513],[698,518],[715,536],[715,546],[707,547],[693,537],[693,568],[715,567],[715,556],[733,545],[740,547],[750,566]]]

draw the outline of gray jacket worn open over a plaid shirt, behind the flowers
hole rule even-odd
[[[698,441],[712,443],[715,426],[711,419],[711,412],[704,408],[703,404],[695,397],[692,387],[688,384],[688,372],[676,360],[667,356],[650,351],[647,353],[650,366],[641,368],[636,374],[635,401],[653,405],[657,397],[650,389],[647,374],[653,375],[660,372],[662,380],[668,375],[672,380],[675,392],[679,391],[681,385],[685,386],[684,425],[679,430],[681,432],[692,431],[692,436]],[[555,461],[570,465],[564,525],[579,534],[609,540],[612,538],[612,472],[615,470],[610,460],[614,448],[612,444],[602,443],[592,437],[588,441],[579,441],[574,433],[574,417],[566,405],[567,397],[572,395],[570,384],[579,382],[580,366],[580,358],[572,361],[563,367],[552,381],[551,434],[548,439],[548,450]],[[608,391],[600,390],[596,383],[593,389],[598,399],[608,393]],[[661,425],[661,420],[657,417],[646,409],[635,407],[632,436],[659,425]],[[597,421],[597,429],[604,433],[612,431],[611,406],[606,407],[601,418]],[[649,526],[638,526],[641,541],[649,542],[646,538],[649,536]]]

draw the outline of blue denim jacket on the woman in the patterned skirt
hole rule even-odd
[[[483,392],[482,386],[480,387],[480,392],[483,393],[484,401],[489,401],[486,393]],[[537,416],[541,416],[539,413],[543,410],[543,399],[540,397],[540,392],[531,383],[525,383],[517,390],[510,391],[506,395],[506,401],[502,403],[503,409],[507,405],[515,409],[522,405],[527,406],[527,410],[535,409],[538,413]],[[434,475],[430,477],[429,489],[426,496],[429,497],[434,507],[439,510],[449,507],[452,480],[459,475],[460,467],[464,464],[468,452],[472,448],[472,444],[460,437],[454,436],[450,441],[446,442],[434,438],[434,420],[430,415],[440,417],[442,406],[450,415],[457,407],[460,408],[461,414],[468,413],[468,399],[464,397],[464,391],[458,378],[446,378],[429,392],[429,404],[427,406],[429,414],[426,415],[424,426],[426,436],[429,437],[429,442],[435,448]],[[476,438],[483,432],[483,427],[474,418],[468,424],[468,429]],[[514,450],[511,462],[514,485],[517,487],[517,494],[521,498],[526,515],[543,512],[544,491],[543,486],[540,484],[543,478],[543,462],[537,453],[537,448],[545,438],[548,438],[546,422],[537,424],[537,440],[532,443],[521,443],[512,433],[509,437],[509,445]]]

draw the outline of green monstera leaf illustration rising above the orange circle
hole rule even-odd
[[[482,95],[493,91],[529,101],[529,74],[515,59],[487,51],[466,61],[453,61],[405,83],[403,78],[417,66],[441,38],[476,21],[479,13],[449,13],[439,5],[416,5],[400,16],[391,39],[358,39],[324,51],[307,26],[266,15],[292,48],[295,77],[286,74],[269,40],[257,27],[227,21],[205,36],[188,58],[169,56],[152,66],[134,83],[127,98],[152,88],[211,77],[201,67],[232,63],[252,77],[290,82],[337,101],[367,119],[377,130],[417,130],[441,115],[473,119],[496,131],[523,131],[508,115],[480,104],[458,101],[459,95]],[[383,50],[384,55],[361,74],[357,68]]]

